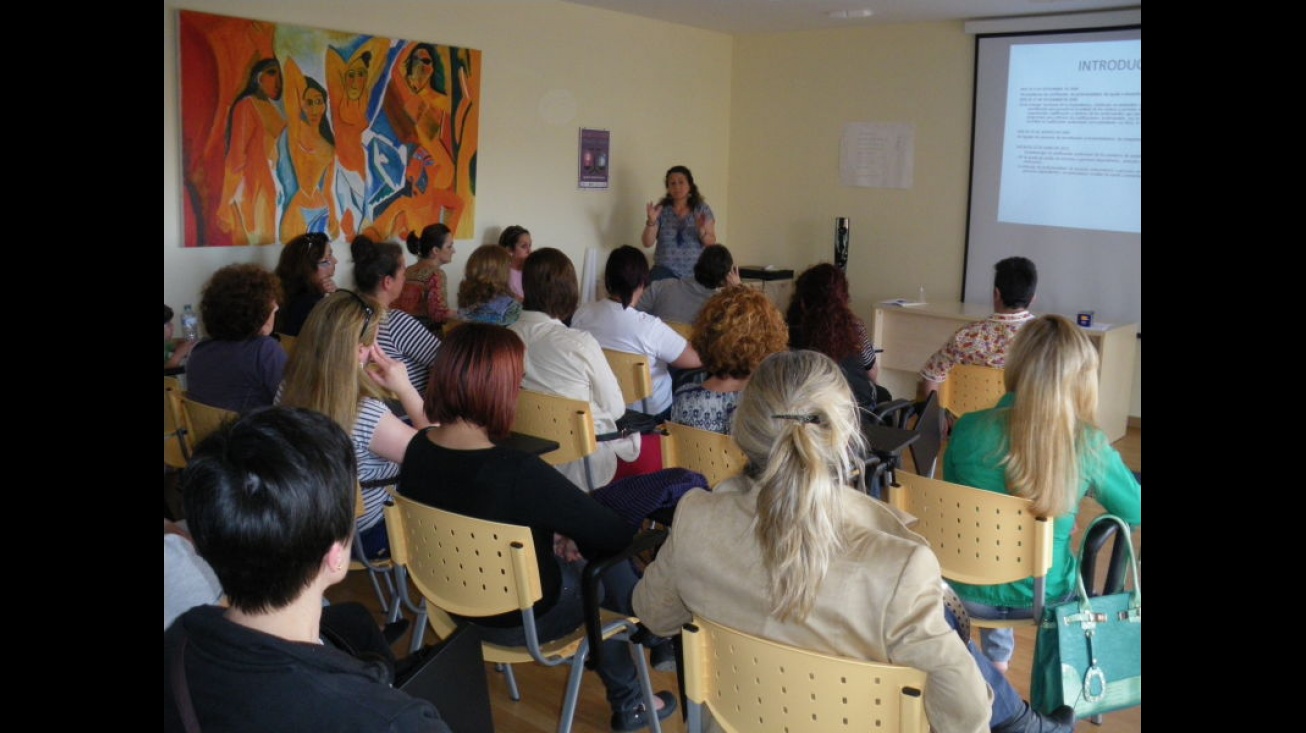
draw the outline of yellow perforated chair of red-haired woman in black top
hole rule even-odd
[[[585,657],[590,653],[590,635],[581,625],[562,639],[541,642],[537,638],[534,604],[543,591],[530,528],[474,519],[396,495],[385,506],[385,529],[390,538],[390,555],[404,568],[404,575],[411,579],[424,601],[432,630],[441,638],[451,631],[449,614],[483,618],[521,613],[526,643],[505,647],[482,642],[485,660],[503,665],[513,700],[520,700],[521,695],[511,677],[511,665],[534,661],[545,666],[569,666],[558,721],[559,733],[569,732],[580,699]],[[620,562],[627,561],[623,557]],[[407,598],[406,581],[400,584],[400,593]],[[588,610],[597,610],[597,596],[593,601],[590,605],[586,598]],[[656,709],[648,661],[643,648],[629,640],[636,631],[637,619],[598,610],[594,636],[628,643],[644,704]],[[652,729],[660,732],[657,716],[650,719]]]

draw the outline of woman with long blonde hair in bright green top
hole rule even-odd
[[[1107,512],[1143,521],[1143,487],[1096,425],[1097,349],[1081,328],[1058,315],[1029,321],[1007,351],[1007,395],[968,413],[952,429],[943,456],[948,481],[1024,497],[1053,517],[1053,567],[1046,597],[1075,595],[1079,561],[1071,534],[1083,498],[1092,491]],[[953,583],[978,618],[1029,618],[1033,580],[1006,585]],[[1015,651],[1011,628],[982,628],[983,652],[1006,670]]]

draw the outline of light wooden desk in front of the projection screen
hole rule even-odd
[[[871,338],[884,349],[880,368],[918,372],[963,325],[983,320],[993,304],[927,303],[912,308],[875,307]],[[1072,321],[1074,316],[1067,316]],[[1097,348],[1101,365],[1097,383],[1097,422],[1111,442],[1124,436],[1130,396],[1134,389],[1134,359],[1138,354],[1138,324],[1085,329]],[[914,380],[913,380],[914,383]]]

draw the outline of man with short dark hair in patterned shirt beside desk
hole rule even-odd
[[[926,359],[921,368],[922,399],[938,391],[948,379],[948,371],[957,365],[1002,368],[1007,363],[1011,340],[1034,319],[1029,312],[1038,286],[1034,263],[1025,257],[1007,257],[993,265],[993,315],[959,328],[943,348]]]

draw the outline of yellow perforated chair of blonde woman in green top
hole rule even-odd
[[[944,580],[998,585],[1033,578],[1033,618],[986,619],[973,626],[1034,626],[1043,614],[1053,566],[1053,523],[1029,499],[896,472],[889,503],[917,519],[912,530],[930,541]]]

